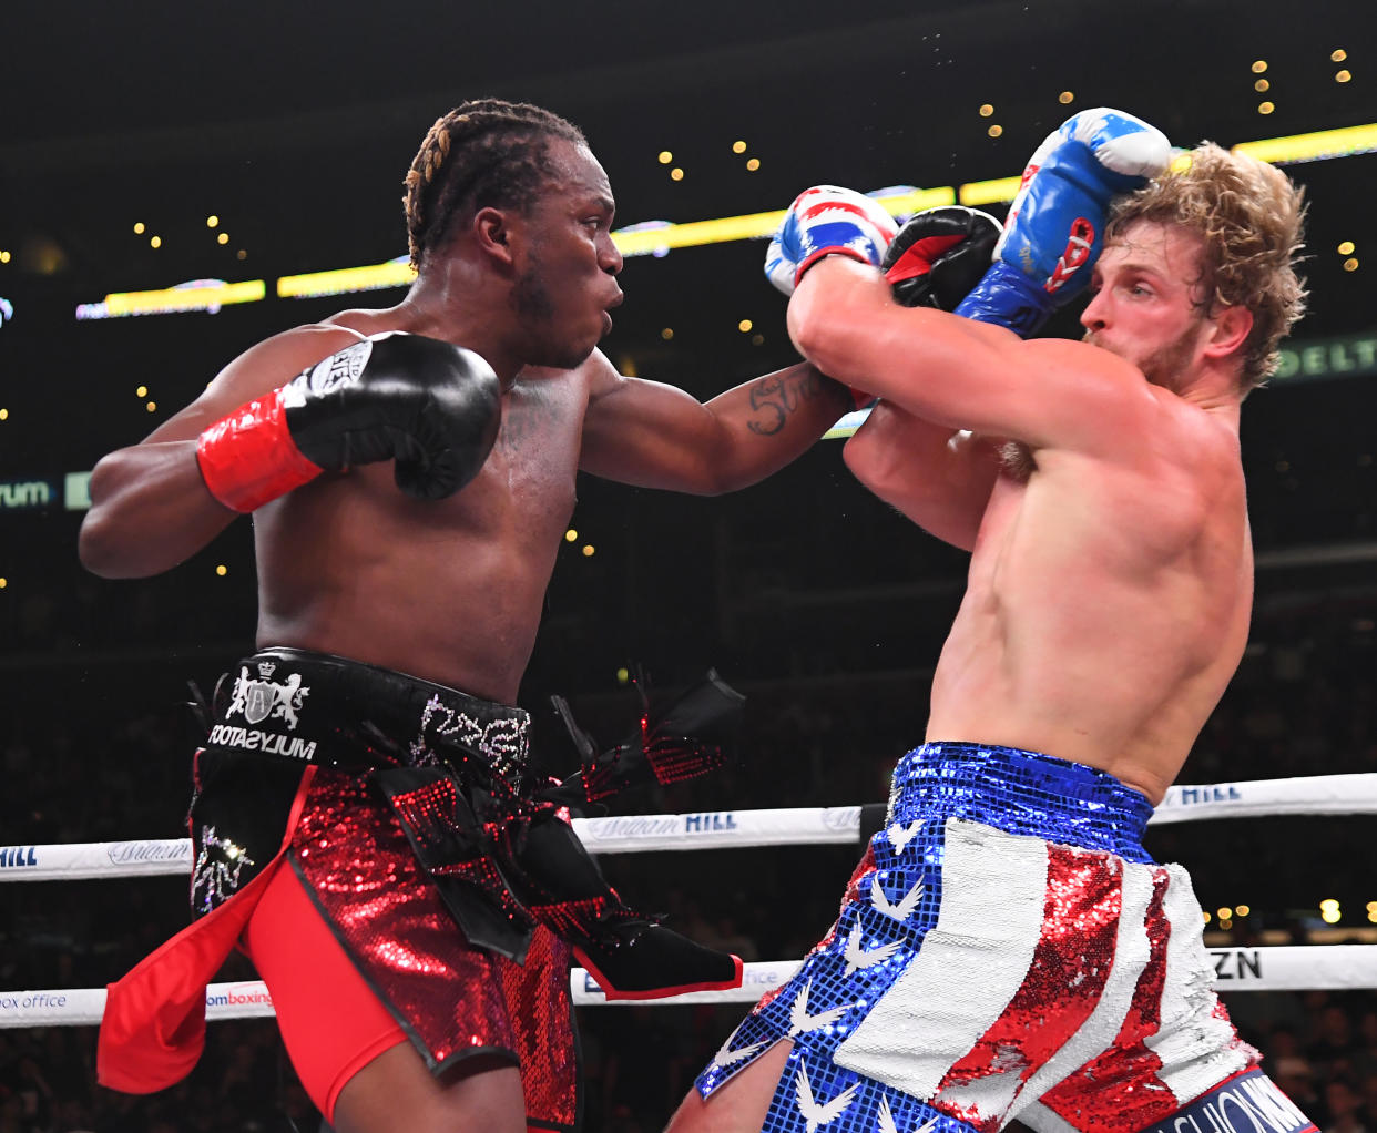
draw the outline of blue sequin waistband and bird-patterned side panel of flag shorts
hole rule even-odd
[[[950,1107],[942,1112],[833,1059],[936,925],[947,832],[993,827],[1151,863],[1142,847],[1151,814],[1147,798],[1114,776],[1052,756],[974,743],[909,752],[894,771],[885,829],[870,840],[837,922],[799,972],[727,1038],[698,1077],[698,1092],[709,1097],[777,1041],[789,1039],[793,1048],[763,1133],[969,1133],[979,1123],[957,1119]],[[964,823],[953,826],[953,819]]]

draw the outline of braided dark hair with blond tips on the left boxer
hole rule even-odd
[[[460,212],[530,208],[555,176],[551,138],[587,145],[573,123],[526,102],[474,99],[437,120],[403,182],[412,266],[445,242]]]

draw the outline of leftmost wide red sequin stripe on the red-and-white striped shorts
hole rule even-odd
[[[935,1104],[987,1133],[1002,1114],[942,1099],[949,1088],[994,1074],[1027,1078],[1095,1010],[1114,962],[1122,900],[1122,862],[1108,854],[1048,847],[1042,932],[1023,983],[1004,1013],[943,1077]]]

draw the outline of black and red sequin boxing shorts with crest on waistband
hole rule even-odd
[[[538,925],[522,931],[503,920],[500,876],[478,869],[485,858],[471,811],[468,825],[445,827],[452,845],[442,849],[460,871],[478,869],[483,884],[438,878],[434,860],[423,865],[380,786],[388,774],[419,774],[453,801],[476,783],[483,798],[519,809],[527,753],[522,709],[344,658],[263,650],[222,680],[197,753],[191,903],[207,913],[246,885],[273,859],[299,804],[278,867],[296,871],[427,1066],[439,1074],[474,1053],[507,1053],[521,1067],[527,1122],[574,1129],[569,946]],[[456,903],[494,924],[494,940],[518,943],[479,947],[461,931]]]

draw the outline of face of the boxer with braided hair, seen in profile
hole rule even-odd
[[[512,307],[529,361],[570,369],[611,330],[621,303],[621,253],[611,240],[616,204],[607,175],[584,146],[549,142],[556,169],[525,218]]]

